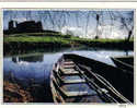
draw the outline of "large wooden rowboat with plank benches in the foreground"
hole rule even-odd
[[[133,74],[73,53],[65,53],[50,74],[55,103],[134,103]]]

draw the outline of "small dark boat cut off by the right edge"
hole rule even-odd
[[[112,58],[117,68],[134,72],[134,57],[115,57]]]

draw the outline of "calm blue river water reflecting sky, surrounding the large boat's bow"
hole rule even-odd
[[[12,74],[23,86],[28,86],[32,81],[37,84],[44,83],[49,91],[49,76],[53,64],[57,62],[58,58],[61,57],[62,53],[66,52],[84,56],[114,67],[115,64],[110,57],[134,55],[133,51],[81,48],[60,50],[56,52],[4,57],[3,77],[8,79]],[[48,91],[46,94],[49,93]],[[48,103],[52,101],[50,98],[47,99]]]

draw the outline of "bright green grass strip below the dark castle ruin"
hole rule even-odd
[[[48,34],[48,33],[27,33],[27,34],[14,34],[4,36],[4,43],[60,43],[60,44],[72,44],[72,43],[123,43],[125,39],[87,39],[79,38],[68,35],[60,34]],[[132,38],[130,41],[134,41]]]

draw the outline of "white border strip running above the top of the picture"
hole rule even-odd
[[[137,2],[0,2],[0,8],[92,8],[92,9],[137,9]]]

